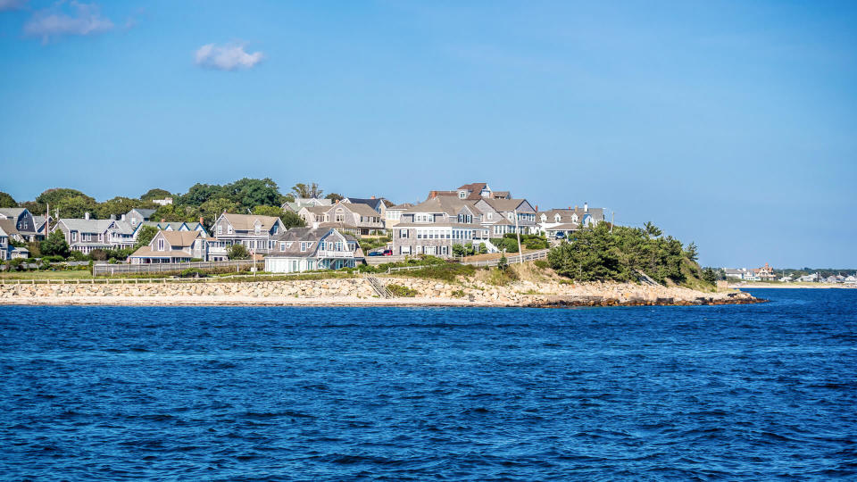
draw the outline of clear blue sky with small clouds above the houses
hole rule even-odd
[[[857,4],[0,0],[0,190],[487,181],[857,267]]]

